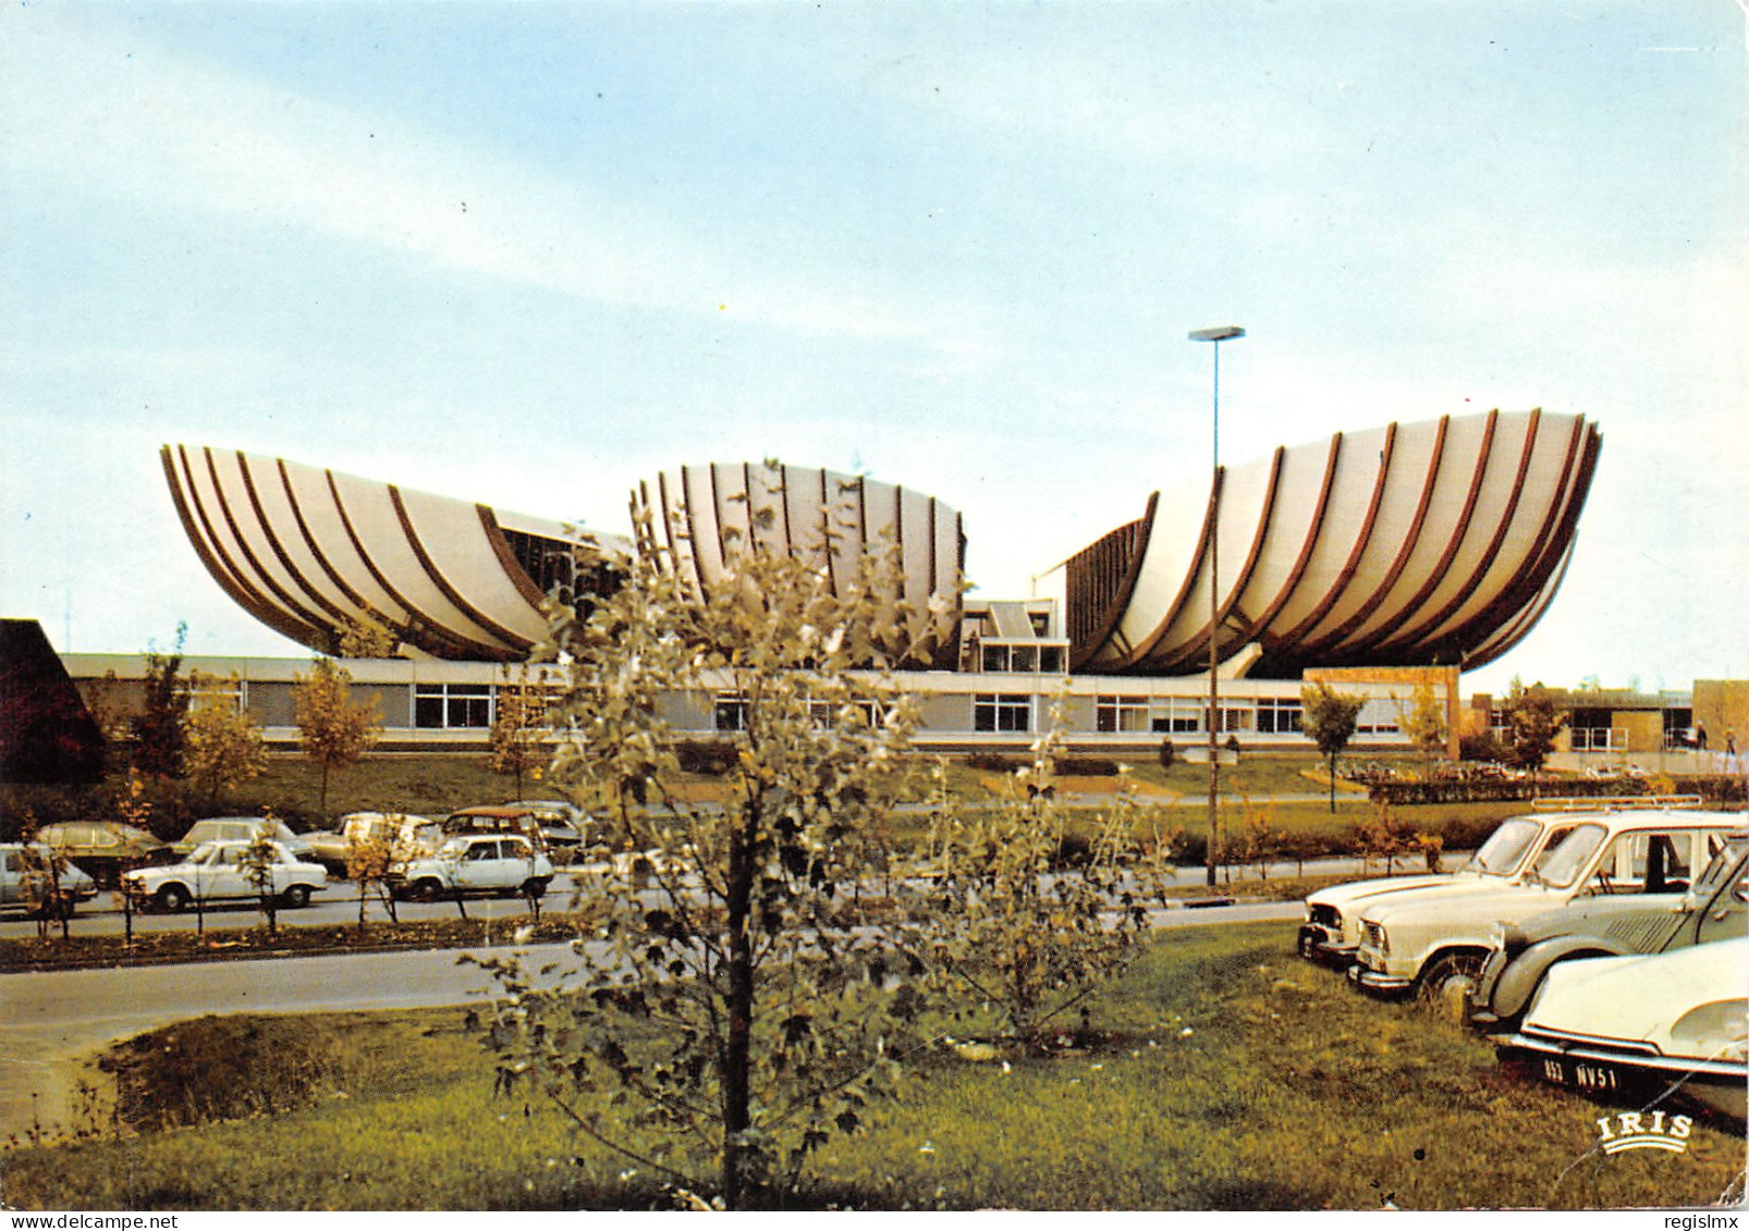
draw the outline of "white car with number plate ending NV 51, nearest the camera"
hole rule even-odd
[[[1663,1091],[1744,1119],[1749,939],[1562,962],[1523,1026],[1495,1037],[1516,1072],[1644,1107]]]

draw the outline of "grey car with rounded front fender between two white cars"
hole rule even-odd
[[[1515,1028],[1557,962],[1669,953],[1749,935],[1746,901],[1749,834],[1739,832],[1686,892],[1672,887],[1670,894],[1592,895],[1523,923],[1499,923],[1476,983],[1471,1025],[1488,1032]]]

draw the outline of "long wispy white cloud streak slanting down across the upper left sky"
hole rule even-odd
[[[616,306],[981,355],[927,306],[843,290],[805,254],[768,268],[703,236],[401,117],[360,114],[33,9],[9,17],[10,177],[311,233]]]

